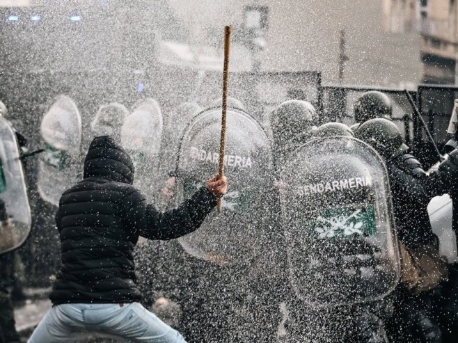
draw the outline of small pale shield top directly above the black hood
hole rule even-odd
[[[95,118],[90,122],[90,129],[95,136],[111,136],[117,141],[120,138],[120,130],[129,110],[123,105],[113,102],[100,106]]]

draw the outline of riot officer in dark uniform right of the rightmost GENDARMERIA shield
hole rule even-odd
[[[458,151],[451,152],[437,170],[427,175],[420,162],[407,154],[409,147],[390,120],[368,120],[358,127],[356,137],[372,145],[388,168],[397,233],[402,242],[401,281],[406,291],[398,308],[400,316],[411,323],[408,329],[414,337],[441,342],[441,330],[427,305],[431,302],[428,292],[448,278],[448,269],[439,256],[427,205],[432,197],[446,192],[450,180],[456,179]]]

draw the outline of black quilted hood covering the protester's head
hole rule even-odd
[[[113,138],[95,137],[84,159],[84,179],[88,177],[106,177],[116,182],[133,184],[134,163]]]

